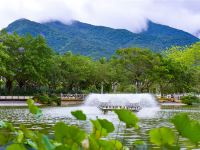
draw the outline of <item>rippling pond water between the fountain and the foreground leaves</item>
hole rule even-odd
[[[125,129],[124,124],[120,124],[119,131],[117,133],[117,128],[119,125],[119,120],[113,112],[108,112],[104,114],[95,106],[74,106],[74,107],[42,107],[43,116],[40,119],[36,119],[32,114],[29,113],[26,107],[0,107],[0,120],[9,121],[14,124],[16,128],[19,127],[19,124],[25,124],[28,128],[33,130],[42,130],[48,134],[52,134],[52,126],[58,121],[64,121],[68,124],[76,124],[81,128],[85,129],[88,133],[91,131],[91,124],[89,119],[105,118],[110,120],[115,124],[115,132],[112,133],[108,138],[119,139],[125,145],[132,147],[132,143],[135,140],[143,140],[148,145],[148,149],[156,149],[155,145],[149,143],[148,131],[151,128],[160,127],[160,126],[169,126],[172,127],[172,124],[169,123],[169,119],[180,112],[188,112],[188,114],[196,120],[200,121],[200,109],[199,108],[188,108],[188,107],[178,107],[173,109],[157,109],[156,113],[152,114],[152,111],[155,110],[145,110],[143,115],[136,113],[139,118],[140,130],[136,131],[134,129]],[[86,122],[78,122],[73,119],[70,112],[72,110],[83,110],[87,114]],[[146,114],[144,114],[146,113]],[[195,133],[194,133],[195,134]],[[182,147],[185,147],[186,139],[181,139]]]

